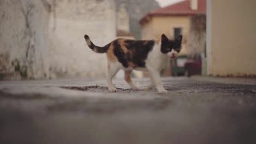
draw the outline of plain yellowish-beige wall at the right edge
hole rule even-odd
[[[208,74],[256,75],[256,1],[207,1]]]

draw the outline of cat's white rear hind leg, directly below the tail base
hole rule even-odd
[[[120,69],[120,65],[118,62],[108,63],[108,70],[107,70],[107,84],[108,84],[108,91],[109,92],[117,92],[117,89],[114,88],[112,79],[117,74],[118,70]]]

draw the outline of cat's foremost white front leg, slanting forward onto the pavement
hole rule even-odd
[[[167,93],[166,89],[162,85],[161,77],[160,77],[160,71],[155,70],[154,68],[148,68],[150,78],[153,80],[153,83],[158,89],[159,93]]]

